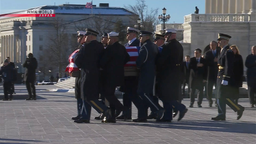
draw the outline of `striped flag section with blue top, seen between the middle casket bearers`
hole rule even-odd
[[[127,62],[124,67],[128,66],[136,66],[136,60],[139,56],[140,47],[139,46],[128,46],[126,47],[126,51],[130,55],[130,61]]]

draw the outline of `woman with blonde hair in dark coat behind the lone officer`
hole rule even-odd
[[[234,78],[236,82],[236,87],[234,88],[235,91],[235,101],[236,104],[238,103],[239,98],[239,88],[243,85],[243,76],[244,76],[244,63],[243,58],[240,55],[240,52],[238,50],[238,47],[236,45],[230,46],[230,49],[233,50],[235,54],[234,58]]]

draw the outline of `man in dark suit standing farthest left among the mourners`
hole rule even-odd
[[[183,79],[183,86],[182,86],[182,95],[185,94],[185,86],[188,84],[188,96],[190,94],[190,86],[189,86],[189,76],[190,76],[190,69],[189,69],[189,63],[190,63],[190,56],[185,56],[185,62],[182,64],[182,72],[184,73],[184,79]]]

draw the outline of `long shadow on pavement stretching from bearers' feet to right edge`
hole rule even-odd
[[[98,124],[98,123],[97,123]],[[104,124],[104,123],[100,123]],[[228,122],[228,121],[173,121],[167,122],[154,122],[148,121],[148,123],[116,123],[119,125],[128,126],[148,126],[154,128],[172,128],[183,130],[204,130],[215,132],[234,132],[244,134],[256,134],[256,123],[254,122]]]

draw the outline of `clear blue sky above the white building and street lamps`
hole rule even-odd
[[[12,10],[25,10],[43,5],[60,5],[69,2],[69,4],[86,4],[91,0],[0,0],[0,14],[12,12]],[[124,7],[124,5],[134,5],[136,0],[93,0],[97,6],[99,3],[109,3],[111,7]],[[149,8],[159,8],[159,14],[162,14],[162,8],[166,8],[166,14],[171,18],[168,23],[183,23],[184,16],[194,13],[195,7],[199,8],[199,13],[205,13],[205,0],[146,0]]]

